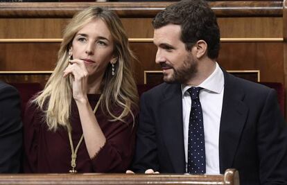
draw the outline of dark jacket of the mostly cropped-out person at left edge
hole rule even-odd
[[[0,173],[19,173],[21,127],[19,93],[14,87],[0,82]]]

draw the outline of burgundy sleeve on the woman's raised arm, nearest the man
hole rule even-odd
[[[123,173],[128,169],[134,154],[136,125],[133,122],[132,116],[128,116],[126,123],[115,121],[102,127],[107,140],[92,159],[95,173]]]

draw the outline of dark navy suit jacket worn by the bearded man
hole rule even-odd
[[[241,184],[287,184],[287,126],[274,89],[224,72],[220,173],[239,171]],[[182,91],[163,83],[141,96],[132,169],[185,173]]]

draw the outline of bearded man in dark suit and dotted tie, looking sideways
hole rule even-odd
[[[241,184],[287,184],[287,128],[276,92],[218,66],[220,32],[208,4],[174,3],[153,26],[164,83],[141,96],[134,172],[236,168]]]

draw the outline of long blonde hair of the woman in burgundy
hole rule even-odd
[[[103,100],[101,109],[110,121],[123,121],[125,116],[138,109],[139,97],[137,86],[132,76],[132,61],[135,60],[128,44],[128,37],[119,17],[105,8],[90,7],[76,14],[64,30],[63,40],[58,52],[58,62],[44,90],[35,97],[33,103],[44,112],[49,130],[57,130],[59,126],[71,129],[69,117],[71,112],[72,86],[71,79],[63,78],[63,71],[69,64],[69,48],[76,33],[93,19],[102,19],[112,34],[114,56],[118,58],[114,64],[115,74],[112,76],[111,64],[107,69],[101,84]],[[116,114],[112,107],[121,107],[121,114]]]

